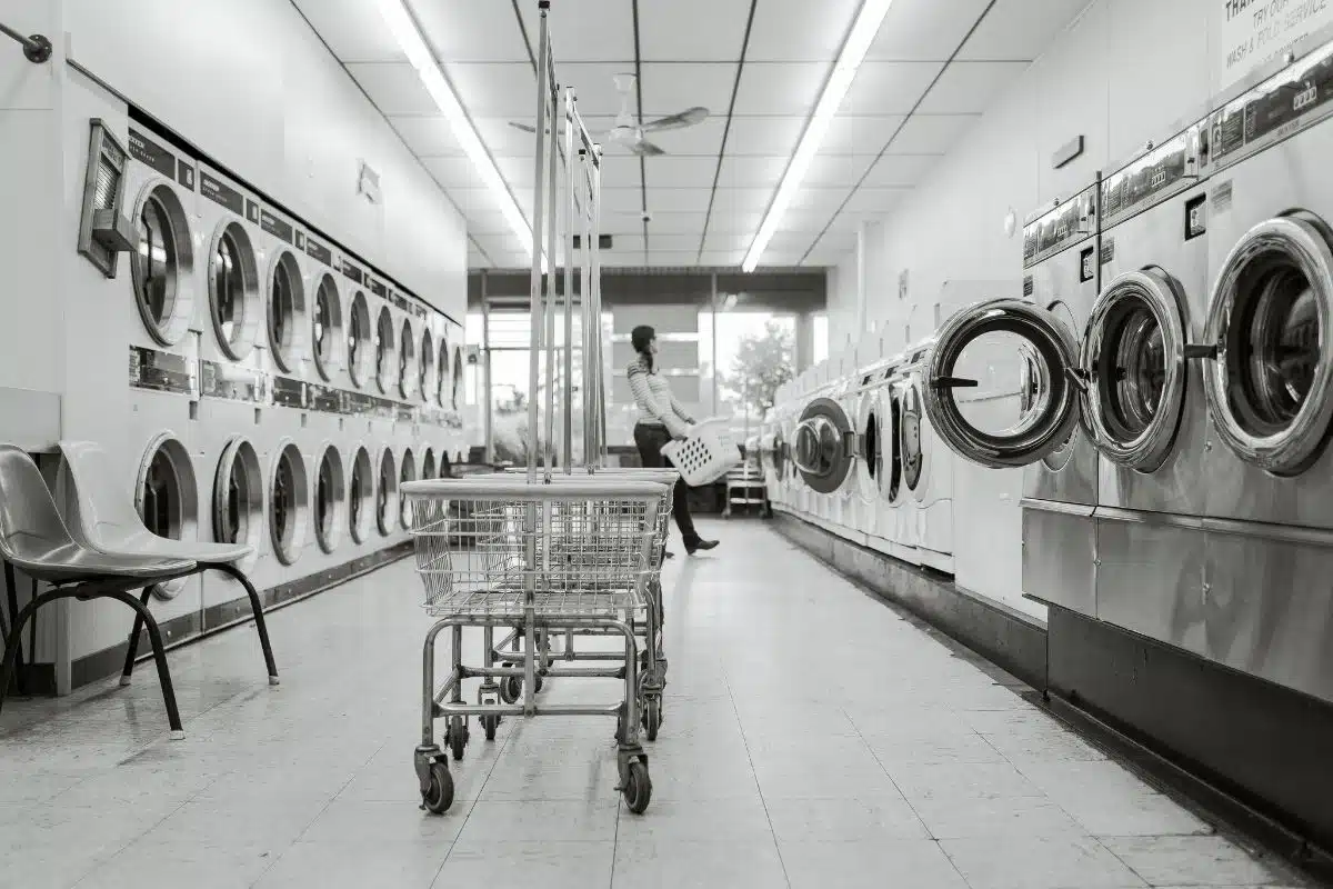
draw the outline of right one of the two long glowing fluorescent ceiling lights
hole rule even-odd
[[[852,25],[852,33],[846,36],[842,52],[838,53],[837,64],[833,65],[833,73],[829,75],[829,80],[824,85],[824,92],[820,95],[820,101],[814,105],[810,123],[806,124],[805,132],[801,135],[801,143],[796,147],[792,163],[786,165],[786,173],[784,173],[782,181],[777,187],[777,195],[773,196],[773,203],[769,205],[768,213],[758,227],[758,233],[754,235],[749,253],[745,255],[745,263],[741,265],[741,269],[745,272],[754,271],[760,257],[764,256],[764,251],[768,249],[768,243],[773,240],[782,216],[786,215],[786,208],[790,205],[792,199],[801,187],[801,181],[805,179],[805,173],[810,168],[810,161],[814,160],[814,155],[818,153],[820,145],[824,143],[829,124],[833,123],[833,115],[837,113],[838,105],[842,104],[842,97],[846,96],[848,88],[852,87],[856,71],[861,67],[865,53],[869,52],[870,43],[874,41],[874,35],[880,32],[880,24],[884,23],[884,16],[892,4],[893,0],[865,0],[861,4],[861,11],[856,15],[856,23]]]

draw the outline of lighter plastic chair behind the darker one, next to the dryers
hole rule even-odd
[[[156,556],[160,558],[188,558],[196,562],[196,572],[217,570],[235,578],[245,588],[255,613],[255,629],[259,644],[264,649],[264,664],[268,666],[268,681],[277,685],[277,665],[273,662],[273,646],[268,640],[268,626],[264,624],[264,604],[259,590],[245,576],[237,562],[248,558],[255,548],[247,544],[209,544],[193,540],[172,540],[159,537],[148,530],[139,510],[111,482],[115,478],[107,452],[92,441],[61,441],[61,481],[71,489],[65,492],[65,524],[69,532],[84,546],[96,552],[116,556]],[[143,592],[144,606],[152,588]],[[129,685],[139,654],[139,636],[143,618],[135,618],[135,629],[129,634],[129,650],[125,653],[125,669],[120,684]]]

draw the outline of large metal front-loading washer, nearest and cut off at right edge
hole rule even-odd
[[[1333,701],[1333,44],[1209,121],[1204,654]]]

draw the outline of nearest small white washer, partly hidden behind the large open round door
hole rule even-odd
[[[913,537],[917,561],[952,574],[954,454],[936,435],[925,413],[925,360],[933,345],[933,339],[913,345],[901,365],[900,461],[902,488],[910,498],[904,509],[916,522]]]

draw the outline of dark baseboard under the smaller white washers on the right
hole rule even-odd
[[[790,513],[774,516],[788,540],[912,612],[1033,688],[1046,682],[1046,628],[954,585],[952,578],[860,546]]]

